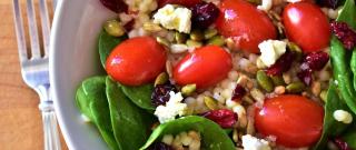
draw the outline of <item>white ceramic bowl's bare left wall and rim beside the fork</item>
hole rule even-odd
[[[102,22],[116,14],[99,0],[61,0],[56,10],[50,46],[50,80],[55,109],[71,150],[108,149],[75,104],[78,84],[100,73],[97,39]]]

